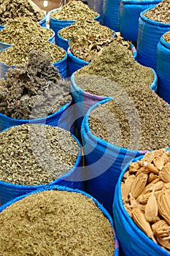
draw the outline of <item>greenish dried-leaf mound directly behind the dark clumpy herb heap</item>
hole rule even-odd
[[[31,50],[41,50],[50,55],[53,63],[61,61],[66,56],[66,51],[45,39],[31,41],[18,41],[18,44],[0,52],[0,61],[9,66],[18,66],[28,62],[28,54]]]

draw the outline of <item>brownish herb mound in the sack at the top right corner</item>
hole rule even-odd
[[[163,0],[151,10],[144,12],[144,16],[150,20],[162,23],[170,23],[170,1]]]

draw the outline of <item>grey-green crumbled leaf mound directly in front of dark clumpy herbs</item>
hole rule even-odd
[[[12,184],[48,184],[71,170],[80,152],[70,132],[49,125],[11,127],[0,140],[0,180]]]

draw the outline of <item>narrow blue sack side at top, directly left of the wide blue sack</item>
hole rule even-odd
[[[104,0],[103,2],[104,25],[116,32],[120,31],[120,1]]]

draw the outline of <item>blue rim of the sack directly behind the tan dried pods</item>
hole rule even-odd
[[[96,104],[94,104],[93,106],[91,106],[91,107],[88,109],[88,111],[87,111],[87,113],[85,114],[85,117],[83,118],[83,121],[82,121],[81,131],[83,131],[83,129],[84,129],[84,130],[85,130],[85,131],[84,131],[85,134],[88,136],[88,138],[90,138],[90,140],[93,140],[95,143],[96,143],[96,141],[97,141],[97,143],[98,143],[99,145],[101,145],[102,147],[104,147],[104,148],[109,148],[109,151],[114,151],[114,152],[115,152],[115,151],[119,151],[120,154],[123,154],[123,155],[125,155],[126,153],[129,153],[129,154],[131,153],[131,154],[135,154],[136,157],[139,157],[139,156],[145,154],[145,153],[147,152],[147,150],[146,150],[146,151],[142,151],[142,150],[140,150],[140,151],[135,151],[135,150],[130,150],[130,149],[128,149],[128,148],[120,148],[120,147],[118,147],[118,146],[115,146],[115,145],[112,144],[112,143],[107,142],[106,140],[103,140],[103,139],[97,137],[96,135],[93,135],[93,133],[90,131],[90,127],[89,127],[89,124],[88,124],[88,120],[89,120],[89,117],[90,117],[90,113],[91,113],[95,108],[97,108],[98,105],[103,105],[104,103],[109,102],[111,99],[113,99],[113,98],[108,97],[107,99],[103,99],[103,100],[101,100],[100,102],[96,102]]]

